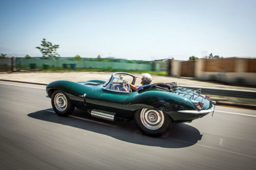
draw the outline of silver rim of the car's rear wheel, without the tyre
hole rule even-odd
[[[160,110],[142,109],[140,112],[140,120],[145,128],[157,130],[161,128],[164,123],[164,115]]]

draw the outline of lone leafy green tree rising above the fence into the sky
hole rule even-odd
[[[42,39],[42,43],[40,46],[37,46],[36,48],[40,50],[42,53],[42,58],[55,58],[57,59],[59,54],[56,52],[57,48],[59,48],[59,45],[53,45],[51,42],[46,41],[45,38]]]

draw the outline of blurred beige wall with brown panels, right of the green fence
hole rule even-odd
[[[170,76],[182,77],[182,62],[170,61]],[[199,80],[256,85],[255,64],[256,59],[246,58],[199,59],[195,61],[195,77]]]

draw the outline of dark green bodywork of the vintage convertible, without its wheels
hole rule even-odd
[[[118,118],[131,120],[136,111],[144,108],[161,110],[170,116],[173,123],[191,122],[214,112],[214,102],[189,89],[178,87],[170,91],[146,90],[142,92],[111,89],[110,86],[113,85],[114,79],[118,80],[115,75],[121,74],[131,76],[133,78],[132,83],[135,83],[136,77],[134,75],[117,72],[106,82],[101,80],[77,83],[63,80],[55,81],[47,85],[46,91],[48,96],[52,98],[54,91],[60,90],[78,109],[110,113],[113,115],[113,120]],[[119,76],[119,78],[122,77]],[[198,109],[192,101],[203,103],[203,107]]]

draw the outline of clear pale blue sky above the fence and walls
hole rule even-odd
[[[0,0],[0,53],[154,60],[256,57],[256,1]]]

